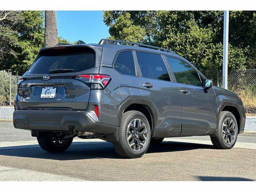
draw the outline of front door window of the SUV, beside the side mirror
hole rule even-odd
[[[172,68],[177,83],[202,86],[198,72],[196,72],[190,65],[179,59],[171,57],[166,58],[170,68]]]

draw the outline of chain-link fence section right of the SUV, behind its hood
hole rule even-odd
[[[222,70],[202,70],[214,85],[222,86]],[[236,92],[244,103],[247,115],[256,115],[256,69],[228,70],[228,90]]]

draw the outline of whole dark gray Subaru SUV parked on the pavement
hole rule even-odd
[[[14,107],[14,127],[30,130],[48,152],[63,152],[78,136],[112,142],[126,158],[166,137],[209,135],[230,149],[246,119],[237,94],[175,52],[107,39],[40,49]]]

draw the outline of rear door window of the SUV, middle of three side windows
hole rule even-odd
[[[161,55],[136,52],[143,77],[170,81],[170,76]]]

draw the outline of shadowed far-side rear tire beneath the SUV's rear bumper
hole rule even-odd
[[[45,134],[42,136],[38,136],[37,141],[43,150],[47,152],[58,153],[67,150],[71,145],[73,138],[66,141],[53,140],[52,137],[50,137],[48,134]]]

